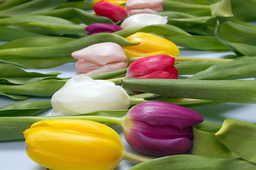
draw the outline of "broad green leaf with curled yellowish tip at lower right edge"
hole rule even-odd
[[[241,120],[226,119],[215,135],[235,154],[256,164],[256,125]]]

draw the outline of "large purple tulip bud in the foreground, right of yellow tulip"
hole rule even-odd
[[[124,137],[139,152],[156,156],[186,154],[192,147],[192,126],[203,122],[188,108],[161,101],[132,107],[123,120]]]

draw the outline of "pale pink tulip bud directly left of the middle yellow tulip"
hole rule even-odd
[[[75,64],[80,74],[98,74],[112,72],[127,67],[127,57],[120,45],[114,42],[102,42],[71,54],[79,59]]]

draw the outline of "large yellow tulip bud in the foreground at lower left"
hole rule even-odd
[[[26,152],[49,169],[111,170],[124,147],[112,128],[90,120],[43,120],[23,132]]]

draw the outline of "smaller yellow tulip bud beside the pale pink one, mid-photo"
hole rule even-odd
[[[134,33],[126,38],[139,45],[123,47],[127,57],[149,57],[152,55],[169,55],[178,57],[179,50],[174,42],[150,33]]]

